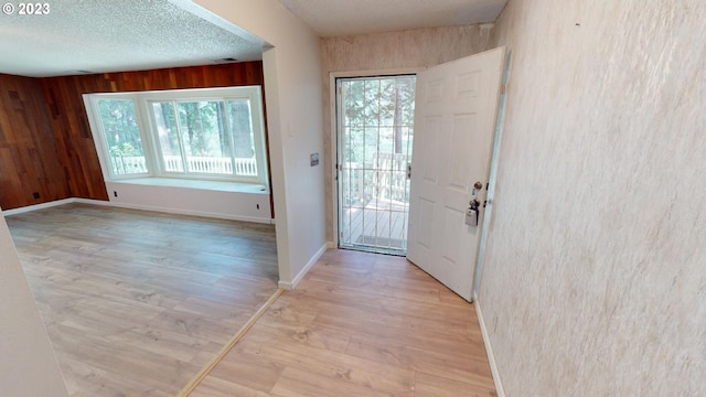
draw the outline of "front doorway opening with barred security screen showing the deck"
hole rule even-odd
[[[336,79],[339,247],[405,256],[416,75]]]

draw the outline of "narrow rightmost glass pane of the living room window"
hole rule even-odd
[[[250,100],[228,100],[228,112],[233,133],[235,173],[240,176],[257,176]]]

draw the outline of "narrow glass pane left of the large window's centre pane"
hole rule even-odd
[[[152,115],[157,126],[158,143],[162,150],[162,170],[184,172],[174,105],[171,101],[152,103]]]

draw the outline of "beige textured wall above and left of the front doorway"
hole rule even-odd
[[[333,240],[333,159],[331,159],[331,72],[425,68],[488,50],[492,25],[449,26],[321,40],[323,65],[322,153],[327,181],[327,238]]]

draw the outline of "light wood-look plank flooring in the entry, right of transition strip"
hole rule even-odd
[[[191,396],[496,394],[472,304],[404,258],[329,250]]]

